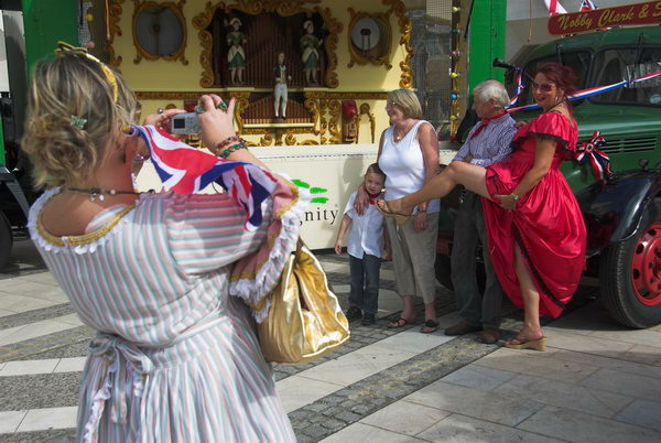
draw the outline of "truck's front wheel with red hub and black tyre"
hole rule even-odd
[[[602,253],[599,284],[617,322],[636,328],[661,323],[661,198],[648,205],[631,237]]]

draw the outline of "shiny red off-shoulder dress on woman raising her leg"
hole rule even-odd
[[[545,112],[521,127],[512,139],[513,152],[487,168],[491,196],[508,195],[534,163],[538,139],[557,141],[546,175],[517,202],[513,212],[481,198],[488,247],[498,280],[512,302],[522,307],[514,271],[514,241],[521,248],[540,293],[540,314],[557,317],[578,285],[585,266],[586,231],[578,202],[559,170],[573,156],[578,130],[560,112]]]

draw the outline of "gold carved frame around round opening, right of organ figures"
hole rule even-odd
[[[392,42],[392,30],[390,29],[390,11],[383,13],[368,13],[356,12],[353,8],[349,8],[349,14],[351,14],[351,21],[349,22],[347,41],[351,60],[347,64],[347,67],[354,66],[355,63],[358,63],[359,65],[371,63],[377,66],[384,65],[387,69],[391,69],[390,46]],[[384,35],[380,35],[381,43],[378,43],[373,48],[368,51],[361,51],[354,44],[353,40],[354,26],[361,19],[372,19],[378,24],[379,30],[386,31]]]

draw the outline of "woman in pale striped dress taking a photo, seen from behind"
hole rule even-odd
[[[216,96],[201,101],[205,145],[235,136],[234,100],[227,111]],[[122,131],[134,110],[121,76],[83,51],[35,68],[23,149],[37,184],[59,185],[31,208],[30,230],[77,314],[98,331],[78,441],[293,442],[239,296],[258,300],[274,287],[303,202],[279,179],[263,224],[245,230],[246,212],[227,194],[134,193],[131,162],[144,145]],[[259,163],[246,149],[229,159]]]

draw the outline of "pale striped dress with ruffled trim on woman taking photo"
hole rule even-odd
[[[272,289],[295,247],[305,203],[295,187],[279,182],[253,231],[225,194],[163,193],[104,210],[75,237],[41,225],[58,192],[33,205],[30,230],[82,321],[98,331],[78,441],[295,441],[240,300]]]

